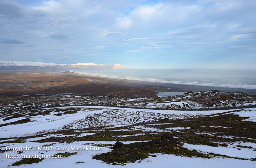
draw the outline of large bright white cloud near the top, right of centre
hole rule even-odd
[[[122,29],[167,30],[177,23],[195,20],[201,7],[196,4],[163,2],[138,5],[128,15],[117,19],[116,26]],[[144,29],[144,30],[143,30]]]

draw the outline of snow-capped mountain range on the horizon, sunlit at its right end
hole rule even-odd
[[[0,61],[0,69],[132,69],[120,64],[103,65],[94,63],[55,64],[27,61]]]

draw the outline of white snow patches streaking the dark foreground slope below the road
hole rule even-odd
[[[67,112],[68,113],[65,113]],[[230,111],[230,112],[229,112]],[[48,112],[48,113],[46,113]],[[75,112],[75,113],[73,113]],[[229,112],[229,113],[228,113]],[[225,114],[236,114],[239,116],[249,117],[245,121],[251,121],[253,124],[256,124],[256,108],[247,108],[238,111],[232,110],[212,110],[212,111],[175,111],[175,110],[149,110],[149,109],[132,109],[132,108],[115,108],[115,107],[91,107],[91,106],[74,106],[74,107],[59,107],[59,108],[43,108],[33,111],[34,114],[30,115],[31,110],[24,110],[13,112],[8,116],[4,116],[3,113],[0,114],[0,124],[7,124],[0,126],[0,168],[7,167],[16,167],[12,166],[13,163],[20,161],[21,158],[6,158],[9,155],[55,155],[61,152],[77,152],[75,155],[71,155],[63,158],[45,158],[44,160],[38,163],[32,164],[21,164],[19,167],[36,167],[36,168],[45,168],[45,167],[225,167],[225,168],[254,168],[256,161],[253,160],[242,160],[256,158],[256,143],[254,139],[251,141],[254,142],[244,142],[241,139],[228,143],[228,146],[219,146],[213,147],[203,144],[188,144],[181,143],[184,148],[188,150],[196,149],[199,153],[209,154],[215,153],[220,155],[226,155],[228,157],[216,156],[212,158],[202,158],[202,157],[186,157],[186,156],[176,156],[176,155],[167,155],[162,153],[155,153],[156,157],[148,156],[144,160],[137,160],[135,163],[125,163],[125,165],[112,165],[106,164],[100,160],[92,159],[93,156],[100,153],[106,153],[111,151],[110,147],[112,146],[101,146],[100,145],[113,145],[116,141],[72,141],[72,142],[31,142],[37,140],[43,140],[51,137],[81,137],[81,136],[94,136],[97,132],[104,132],[111,128],[109,132],[115,131],[126,131],[126,135],[114,136],[116,138],[129,138],[131,136],[144,136],[148,133],[156,134],[157,132],[178,132],[182,134],[184,131],[191,129],[191,127],[181,126],[181,127],[172,127],[172,128],[162,128],[164,125],[172,125],[171,121],[176,119],[185,119],[183,122],[193,122],[193,120],[188,120],[191,118],[197,118],[206,115],[209,118],[213,116],[220,116]],[[65,113],[65,114],[64,114]],[[14,115],[23,115],[17,118],[11,118],[8,120],[7,117]],[[19,120],[24,120],[29,118],[29,122],[21,124],[8,124],[11,122],[17,122]],[[164,124],[144,124],[136,125],[137,123],[143,122],[154,122],[162,120],[164,118],[169,118],[170,123]],[[134,125],[135,124],[135,125]],[[116,128],[129,126],[129,128]],[[154,128],[150,126],[160,126],[159,128]],[[94,129],[96,128],[97,129]],[[88,130],[83,130],[88,128]],[[116,129],[115,129],[116,128]],[[221,126],[211,126],[210,129],[219,129]],[[58,130],[71,129],[72,133],[69,135],[62,133],[54,133]],[[228,129],[228,127],[227,127]],[[140,130],[142,133],[129,134],[129,131]],[[76,135],[76,132],[82,131],[83,133]],[[252,130],[253,131],[253,130]],[[254,130],[255,131],[255,130]],[[145,132],[145,133],[143,133]],[[203,134],[202,132],[195,132],[195,134]],[[210,132],[208,132],[208,135]],[[40,135],[40,136],[34,136]],[[29,137],[34,136],[34,137]],[[24,137],[23,140],[15,142],[18,138]],[[176,137],[175,137],[176,138]],[[230,137],[232,138],[232,137]],[[238,137],[243,138],[243,137]],[[138,141],[121,141],[124,144],[130,144]],[[222,142],[220,142],[221,144]],[[43,145],[50,145],[54,149],[56,147],[65,147],[68,150],[57,151],[57,150],[26,150],[24,152],[16,151],[6,151],[6,147],[19,148],[19,147],[42,147]],[[248,148],[238,149],[237,145],[247,146]],[[102,150],[88,150],[88,151],[77,151],[71,150],[71,147],[91,147],[101,148]],[[238,149],[238,150],[237,150]],[[236,158],[235,158],[236,157]]]

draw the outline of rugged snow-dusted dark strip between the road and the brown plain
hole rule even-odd
[[[21,83],[23,85],[23,83]],[[26,83],[24,83],[26,84]],[[178,92],[177,92],[178,93]],[[146,108],[221,108],[256,104],[256,95],[242,92],[187,92],[169,97],[119,97],[119,96],[88,96],[60,93],[52,96],[24,97],[15,100],[0,101],[0,112],[65,105],[109,105]]]

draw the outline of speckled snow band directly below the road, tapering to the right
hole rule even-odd
[[[77,109],[74,114],[66,114],[62,116],[56,116],[56,114],[61,113],[61,109]],[[64,128],[66,125],[72,123],[69,128],[85,128],[92,126],[120,126],[127,124],[135,124],[143,121],[154,121],[159,119],[164,119],[166,117],[170,119],[179,118],[191,118],[193,116],[202,116],[209,114],[216,114],[220,112],[227,112],[228,110],[212,110],[212,111],[175,111],[175,110],[138,110],[132,108],[116,108],[116,107],[101,107],[94,106],[93,110],[90,109],[91,106],[74,106],[74,107],[60,107],[60,108],[44,108],[38,111],[48,111],[52,110],[49,115],[37,115],[37,116],[27,116],[30,118],[31,122],[18,125],[7,125],[0,127],[0,138],[4,137],[17,137],[21,135],[32,135],[35,132],[40,132],[44,130],[57,130],[59,128]],[[55,112],[56,109],[60,111]],[[28,110],[29,112],[30,110]],[[15,114],[19,114],[16,112]],[[6,117],[1,118],[4,120]],[[88,122],[92,118],[91,122]],[[19,117],[15,119],[10,119],[12,121],[18,121],[24,119],[24,117]],[[8,123],[7,121],[1,121],[1,124]],[[2,123],[3,122],[3,123]],[[9,122],[10,123],[10,122]],[[47,125],[47,127],[45,127]]]

